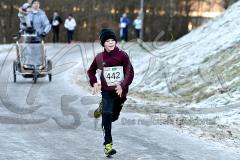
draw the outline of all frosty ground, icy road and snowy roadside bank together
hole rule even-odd
[[[119,44],[136,74],[114,124],[116,159],[239,159],[239,15],[240,2],[175,42]],[[35,87],[23,78],[17,84],[4,81],[11,77],[14,54],[4,61],[12,45],[0,47],[0,141],[5,148],[0,157],[103,159],[100,122],[91,118],[100,97],[91,96],[85,74],[102,48],[98,43],[47,46],[53,83],[42,79]],[[7,97],[17,106],[4,103]],[[61,106],[65,101],[73,102],[70,108]],[[26,102],[35,105],[28,108]]]

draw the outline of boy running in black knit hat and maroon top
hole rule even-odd
[[[104,51],[99,53],[93,60],[88,76],[94,94],[101,90],[102,102],[97,111],[102,113],[102,127],[105,132],[105,154],[111,156],[116,153],[112,148],[112,122],[120,115],[123,103],[126,101],[128,87],[132,83],[134,70],[127,53],[117,46],[117,38],[111,29],[100,31],[101,45]],[[100,69],[101,83],[97,82],[96,70]],[[95,112],[95,116],[97,116]]]

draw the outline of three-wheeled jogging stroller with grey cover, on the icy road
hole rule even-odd
[[[17,81],[17,75],[24,78],[32,78],[37,83],[38,78],[48,76],[52,81],[52,62],[47,60],[43,39],[36,34],[15,35],[17,58],[13,62],[13,80]]]

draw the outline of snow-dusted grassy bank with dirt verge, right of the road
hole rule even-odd
[[[165,113],[201,136],[239,144],[239,17],[237,2],[175,42],[159,47],[143,43],[145,52],[131,52],[137,68],[131,90],[136,104],[129,108]]]

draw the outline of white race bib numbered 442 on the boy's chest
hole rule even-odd
[[[121,84],[124,79],[123,67],[104,67],[103,75],[108,86],[116,86],[118,84]]]

